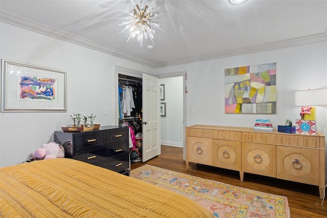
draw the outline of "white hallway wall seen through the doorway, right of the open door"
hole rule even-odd
[[[161,117],[161,144],[183,146],[183,77],[160,79],[165,84],[166,117]]]

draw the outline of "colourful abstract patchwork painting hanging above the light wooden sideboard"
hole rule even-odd
[[[225,113],[276,113],[276,63],[225,69]]]

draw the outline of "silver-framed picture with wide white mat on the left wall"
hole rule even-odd
[[[1,111],[67,111],[67,71],[2,59]]]

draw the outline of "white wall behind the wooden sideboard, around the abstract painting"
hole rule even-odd
[[[277,64],[277,113],[225,114],[224,69],[273,62]],[[155,74],[182,70],[188,74],[187,126],[253,127],[255,118],[269,118],[277,128],[284,125],[285,119],[295,123],[300,118],[300,107],[294,106],[294,91],[327,88],[327,42],[162,67],[155,69]],[[191,113],[193,107],[195,113]],[[317,129],[327,136],[327,106],[317,106],[316,110]],[[327,153],[325,156],[327,160]]]

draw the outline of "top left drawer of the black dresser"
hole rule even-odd
[[[104,144],[104,133],[89,133],[75,135],[74,139],[75,150],[85,149],[92,146],[101,146]]]

